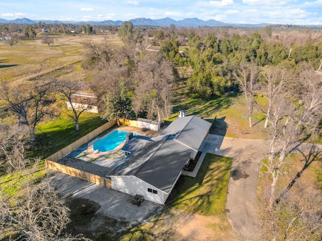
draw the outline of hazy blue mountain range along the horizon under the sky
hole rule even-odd
[[[165,19],[145,19],[145,18],[137,18],[129,20],[133,23],[134,26],[155,26],[155,27],[166,27],[170,26],[171,24],[174,24],[176,27],[202,27],[202,26],[209,26],[209,27],[216,27],[216,26],[233,26],[233,27],[264,27],[271,24],[237,24],[237,23],[223,23],[216,20],[208,20],[203,21],[198,18],[188,18],[184,20],[173,20],[171,18],[165,18]],[[75,25],[116,25],[120,26],[122,25],[123,21],[112,21],[112,20],[105,20],[102,22],[95,22],[95,21],[88,21],[88,22],[72,22],[72,21],[56,21],[56,20],[30,20],[27,18],[23,19],[15,19],[15,20],[6,20],[6,19],[0,19],[0,24],[36,24],[38,22],[44,22],[46,24],[75,24]]]

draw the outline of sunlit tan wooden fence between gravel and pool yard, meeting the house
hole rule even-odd
[[[46,159],[46,167],[60,173],[67,174],[72,177],[81,178],[86,181],[102,185],[108,188],[112,188],[112,180],[104,177],[100,177],[98,175],[88,173],[79,169],[75,169],[60,163],[52,162],[51,160]]]

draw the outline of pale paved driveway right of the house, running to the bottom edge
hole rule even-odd
[[[269,151],[269,140],[238,139],[209,134],[201,150],[233,157],[226,201],[227,217],[232,227],[247,240],[258,240],[260,223],[256,208],[259,164],[255,158]],[[321,145],[303,143],[293,152],[321,152]],[[236,165],[236,159],[245,162]]]

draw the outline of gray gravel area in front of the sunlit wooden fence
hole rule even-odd
[[[163,210],[163,205],[144,200],[140,207],[131,204],[131,195],[91,182],[51,171],[50,179],[62,198],[84,198],[98,203],[97,214],[129,223],[144,222]]]

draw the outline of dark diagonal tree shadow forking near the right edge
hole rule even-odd
[[[293,149],[296,149],[294,147]],[[275,203],[278,204],[281,199],[285,196],[285,194],[294,186],[294,184],[297,182],[297,180],[301,177],[302,173],[313,163],[313,162],[321,162],[322,157],[322,150],[319,150],[316,145],[311,145],[311,148],[309,150],[309,153],[304,153],[303,151],[297,149],[303,156],[303,159],[301,162],[304,162],[304,165],[300,171],[297,172],[297,174],[293,177],[292,181],[287,185],[286,188],[282,191],[282,193],[277,197]],[[322,162],[321,162],[322,163]]]

